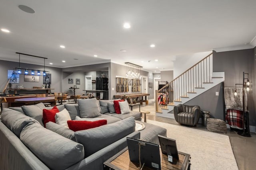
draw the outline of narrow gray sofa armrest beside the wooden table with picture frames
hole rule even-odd
[[[140,132],[135,131],[126,137],[132,137],[135,139],[140,139]],[[81,160],[80,162],[74,164],[67,168],[67,170],[84,170],[84,169],[97,169],[103,170],[103,163],[120,152],[122,149],[127,147],[126,137],[108,145],[107,147],[95,152],[94,154],[88,156],[87,158]]]

